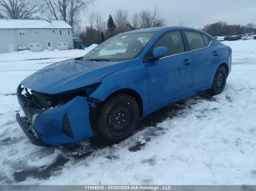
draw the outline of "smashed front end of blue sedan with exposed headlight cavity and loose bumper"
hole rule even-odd
[[[16,120],[34,145],[66,145],[93,136],[89,110],[100,100],[88,97],[100,83],[59,94],[17,88],[18,102],[25,113]]]

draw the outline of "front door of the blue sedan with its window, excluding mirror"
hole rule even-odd
[[[193,62],[189,52],[185,52],[180,31],[164,34],[152,47],[168,49],[159,60],[146,62],[150,108],[186,95],[192,91]]]

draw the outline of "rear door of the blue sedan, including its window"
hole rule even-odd
[[[193,90],[211,83],[214,66],[218,63],[219,50],[211,46],[210,38],[203,33],[184,31],[193,59]]]

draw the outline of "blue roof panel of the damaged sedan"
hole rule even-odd
[[[145,29],[138,29],[138,30],[131,30],[124,33],[119,34],[131,34],[131,33],[145,33],[145,32],[159,32],[160,30],[195,30],[198,32],[203,32],[198,29],[190,28],[190,27],[178,27],[178,26],[170,26],[170,27],[153,27],[153,28],[145,28]],[[118,35],[119,35],[118,34]]]

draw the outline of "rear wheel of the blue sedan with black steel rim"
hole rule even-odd
[[[212,95],[220,94],[226,85],[227,81],[227,71],[223,65],[220,65],[214,75],[213,83],[211,89],[209,89],[209,93]]]

